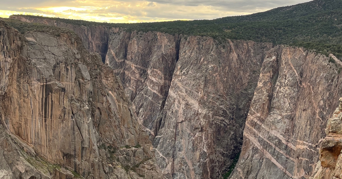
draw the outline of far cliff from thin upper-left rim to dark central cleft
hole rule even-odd
[[[89,52],[100,53],[113,68],[133,103],[133,111],[152,136],[155,120],[164,107],[178,60],[180,37],[157,32],[127,32],[104,26],[78,26],[42,18],[11,16],[73,30]],[[146,101],[148,101],[146,103]]]

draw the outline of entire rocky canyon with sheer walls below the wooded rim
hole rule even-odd
[[[10,19],[46,27],[0,20],[0,178],[339,178],[341,65],[325,55]]]

